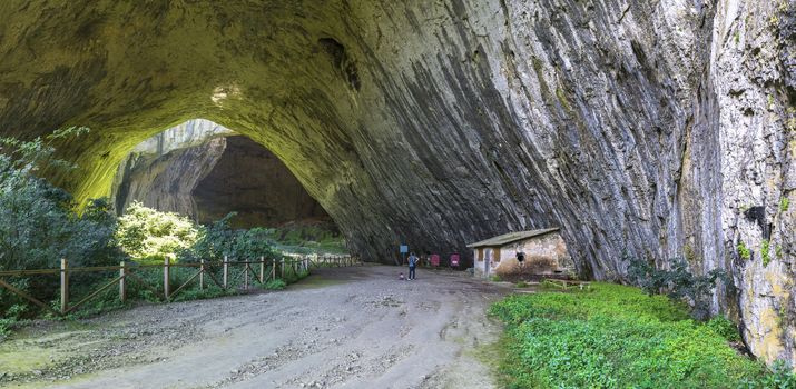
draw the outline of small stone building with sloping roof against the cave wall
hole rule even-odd
[[[468,245],[473,249],[476,276],[531,275],[554,276],[574,271],[567,243],[559,228],[509,232]],[[517,253],[524,253],[520,265]]]

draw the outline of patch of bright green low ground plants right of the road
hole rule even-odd
[[[507,323],[507,388],[763,388],[770,378],[728,346],[731,322],[695,322],[637,288],[511,296],[490,315]]]

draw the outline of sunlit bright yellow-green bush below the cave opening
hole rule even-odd
[[[176,259],[178,252],[191,247],[199,227],[184,216],[134,202],[119,218],[116,236],[130,257],[163,262],[165,258]]]

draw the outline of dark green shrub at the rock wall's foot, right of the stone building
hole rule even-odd
[[[729,281],[727,275],[714,269],[706,276],[695,276],[688,268],[688,262],[680,258],[670,260],[671,269],[657,269],[653,263],[627,255],[628,280],[641,287],[647,293],[664,293],[676,301],[687,301],[691,306],[691,315],[705,320],[710,315],[711,290],[717,281]]]

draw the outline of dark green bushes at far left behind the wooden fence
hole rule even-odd
[[[70,266],[105,266],[118,263],[124,253],[118,249],[116,217],[106,200],[92,200],[82,215],[78,205],[60,188],[36,177],[37,172],[71,169],[53,158],[52,141],[83,133],[82,128],[56,131],[42,140],[20,141],[0,138],[0,270],[57,268],[60,259]],[[75,275],[73,282],[90,282],[94,275]],[[45,301],[55,297],[57,278],[11,278],[9,281]],[[16,316],[14,306],[28,302],[0,290],[0,317]],[[38,309],[26,310],[33,317]]]

